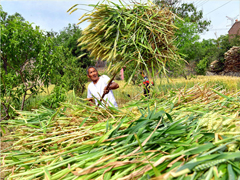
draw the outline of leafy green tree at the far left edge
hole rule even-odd
[[[48,85],[61,48],[54,47],[39,27],[16,13],[1,11],[1,110],[11,116],[10,107],[24,109],[25,102]]]

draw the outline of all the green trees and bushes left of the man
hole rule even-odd
[[[66,90],[75,89],[78,94],[84,91],[84,68],[92,61],[86,50],[77,47],[81,34],[77,26],[69,25],[60,34],[45,33],[38,26],[33,28],[19,13],[8,15],[2,7],[0,13],[1,119],[13,117],[14,109],[24,110],[29,99],[50,82]],[[64,99],[59,92],[56,89],[43,104],[55,107],[54,102]]]

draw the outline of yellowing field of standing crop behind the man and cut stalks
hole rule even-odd
[[[104,73],[104,72],[103,72]],[[114,90],[114,96],[118,103],[119,107],[123,107],[126,103],[131,100],[140,99],[143,94],[143,88],[137,85],[128,84],[123,80],[115,80],[119,84],[119,89]],[[86,88],[90,82],[86,83]],[[238,92],[240,91],[240,78],[239,77],[231,77],[231,76],[196,76],[190,80],[186,80],[185,78],[166,78],[160,79],[158,78],[155,82],[155,86],[152,89],[152,92],[157,94],[158,96],[164,96],[169,91],[182,89],[182,88],[190,88],[196,84],[206,85],[206,87],[221,87],[221,89],[225,89],[229,92]],[[40,106],[40,102],[44,100],[44,98],[49,95],[54,88],[54,85],[50,85],[48,88],[45,88],[45,92],[37,95],[34,98],[29,99],[26,104],[25,110],[37,109]],[[81,98],[87,97],[87,90],[84,91]],[[73,91],[69,91],[67,94],[67,101],[71,103],[76,102],[76,97]]]

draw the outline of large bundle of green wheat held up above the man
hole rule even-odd
[[[79,19],[79,24],[90,21],[79,45],[86,45],[84,48],[91,56],[110,62],[109,67],[113,64],[113,71],[129,62],[134,62],[136,69],[140,66],[163,69],[167,61],[179,60],[173,46],[177,17],[168,8],[150,2],[133,5],[107,2],[96,5]],[[75,5],[69,11],[77,9]]]

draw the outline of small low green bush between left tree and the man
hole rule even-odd
[[[62,86],[55,86],[51,94],[44,98],[40,104],[48,108],[58,108],[60,103],[66,100],[66,93],[66,89]]]

